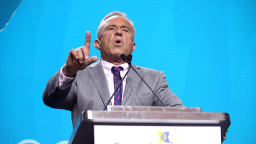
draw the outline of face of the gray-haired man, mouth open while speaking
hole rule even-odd
[[[121,54],[133,52],[133,33],[131,24],[124,17],[113,16],[104,22],[101,38],[94,41],[94,46],[100,49],[102,59],[111,63],[120,59]]]

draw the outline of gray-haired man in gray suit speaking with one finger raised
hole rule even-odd
[[[70,50],[65,65],[47,83],[42,95],[44,104],[71,110],[73,127],[82,111],[103,110],[116,87],[113,83],[116,77],[111,69],[113,66],[122,67],[118,74],[121,77],[125,75],[129,65],[120,55],[129,55],[135,50],[134,36],[133,22],[125,13],[113,11],[106,15],[98,26],[97,39],[94,40],[101,59],[97,61],[97,57],[89,57],[91,34],[86,32],[84,46]],[[133,67],[167,106],[183,106],[170,91],[164,73],[136,65]],[[162,106],[133,69],[125,77],[122,87],[123,106]],[[115,105],[114,101],[110,104]]]

